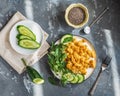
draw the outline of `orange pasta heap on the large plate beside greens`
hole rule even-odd
[[[66,67],[73,73],[86,74],[88,68],[95,68],[95,52],[88,48],[85,39],[73,39],[67,44]]]

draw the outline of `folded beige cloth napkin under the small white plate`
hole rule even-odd
[[[21,58],[25,58],[26,62],[29,65],[32,65],[38,60],[40,60],[40,58],[42,58],[47,53],[47,50],[50,47],[46,41],[48,34],[45,31],[43,31],[44,42],[35,53],[30,55],[21,55],[14,51],[9,42],[10,30],[14,24],[25,19],[26,18],[20,12],[16,12],[0,32],[0,56],[2,56],[8,62],[8,64],[10,64],[10,66],[12,66],[13,69],[15,69],[19,74],[21,74],[25,69]]]

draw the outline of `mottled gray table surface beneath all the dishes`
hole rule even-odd
[[[110,10],[92,27],[92,32],[85,35],[80,31],[81,29],[68,26],[64,20],[64,11],[71,3],[83,3],[88,8],[90,13],[88,24],[106,6]],[[16,11],[20,11],[40,24],[49,34],[47,39],[49,44],[66,33],[83,36],[94,45],[98,57],[97,67],[89,79],[82,84],[66,87],[48,82],[48,77],[52,76],[52,73],[47,56],[33,66],[40,70],[45,79],[42,85],[32,84],[26,73],[19,75],[0,57],[0,96],[88,96],[87,93],[98,74],[102,58],[108,53],[112,55],[111,66],[102,73],[94,96],[120,96],[119,4],[119,0],[0,0],[0,29]]]

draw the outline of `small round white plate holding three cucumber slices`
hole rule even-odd
[[[23,54],[23,55],[33,54],[37,49],[25,49],[25,48],[18,46],[18,40],[16,38],[16,36],[18,34],[18,31],[16,28],[18,25],[24,25],[24,26],[28,27],[36,35],[36,41],[39,42],[40,44],[42,44],[42,41],[43,41],[42,28],[40,27],[39,24],[37,24],[34,21],[23,20],[23,21],[16,23],[10,31],[9,41],[10,41],[12,48],[16,52]]]

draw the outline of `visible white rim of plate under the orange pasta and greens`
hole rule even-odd
[[[95,52],[95,58],[94,58],[94,60],[95,60],[95,64],[96,64],[96,59],[97,59],[97,57],[96,57],[96,51],[95,51],[93,45],[92,45],[86,38],[84,38],[84,37],[80,37],[80,36],[73,36],[73,37],[76,38],[76,39],[78,39],[78,40],[80,40],[80,39],[85,39],[85,40],[87,41],[87,42],[86,42],[87,47],[88,47],[90,50],[92,50],[92,51]],[[55,44],[59,44],[59,43],[60,43],[60,40],[56,41]],[[88,69],[87,69],[87,73],[86,73],[86,75],[84,75],[84,76],[85,76],[85,80],[92,75],[94,69],[95,69],[95,68],[88,68]],[[61,79],[61,77],[62,77],[62,74],[61,74],[61,73],[56,73],[56,72],[54,72],[52,69],[51,69],[51,71],[52,71],[52,73],[53,73],[58,79]]]

